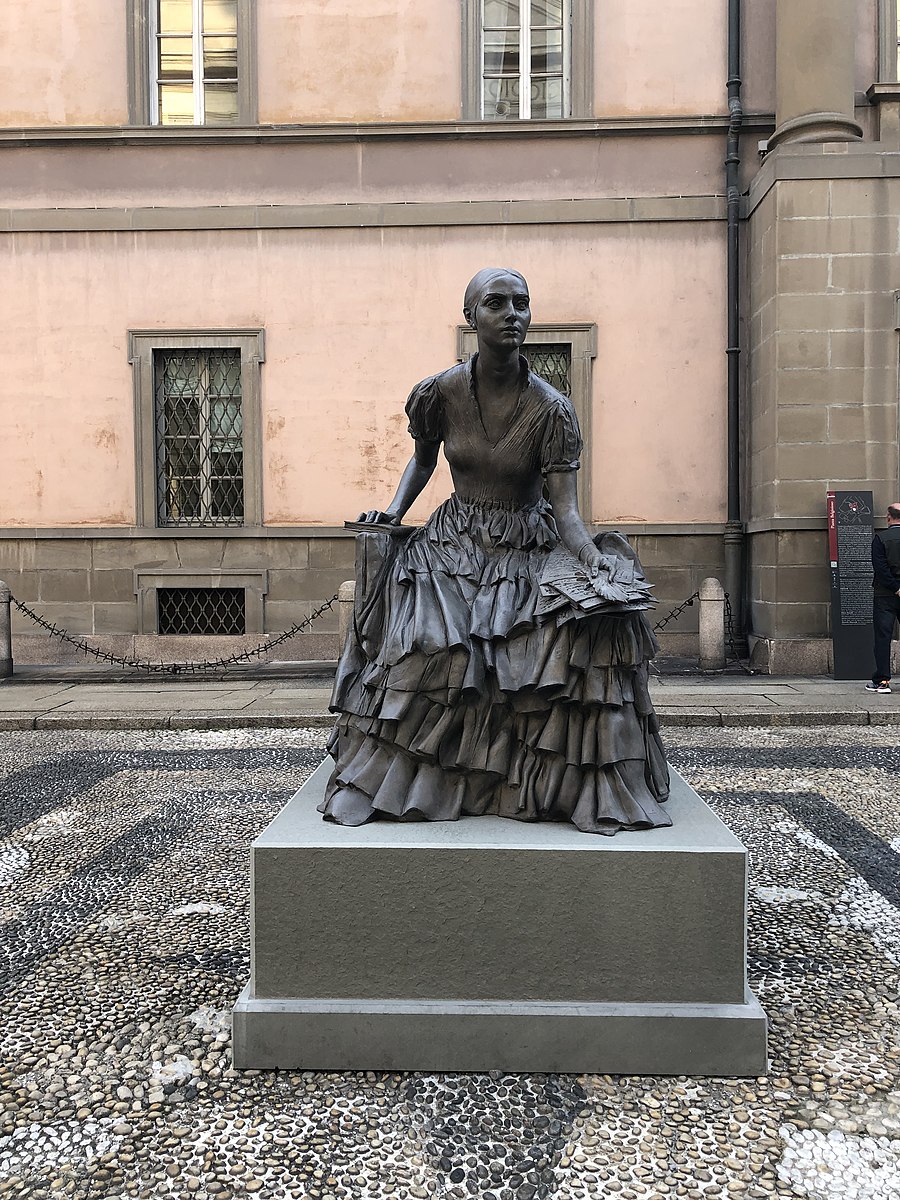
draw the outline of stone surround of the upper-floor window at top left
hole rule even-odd
[[[156,47],[150,6],[155,2],[156,0],[126,0],[130,125],[158,125],[158,121],[151,120],[155,76],[152,59]],[[238,125],[257,125],[258,121],[257,5],[256,0],[238,0]],[[160,127],[191,132],[211,126]]]

